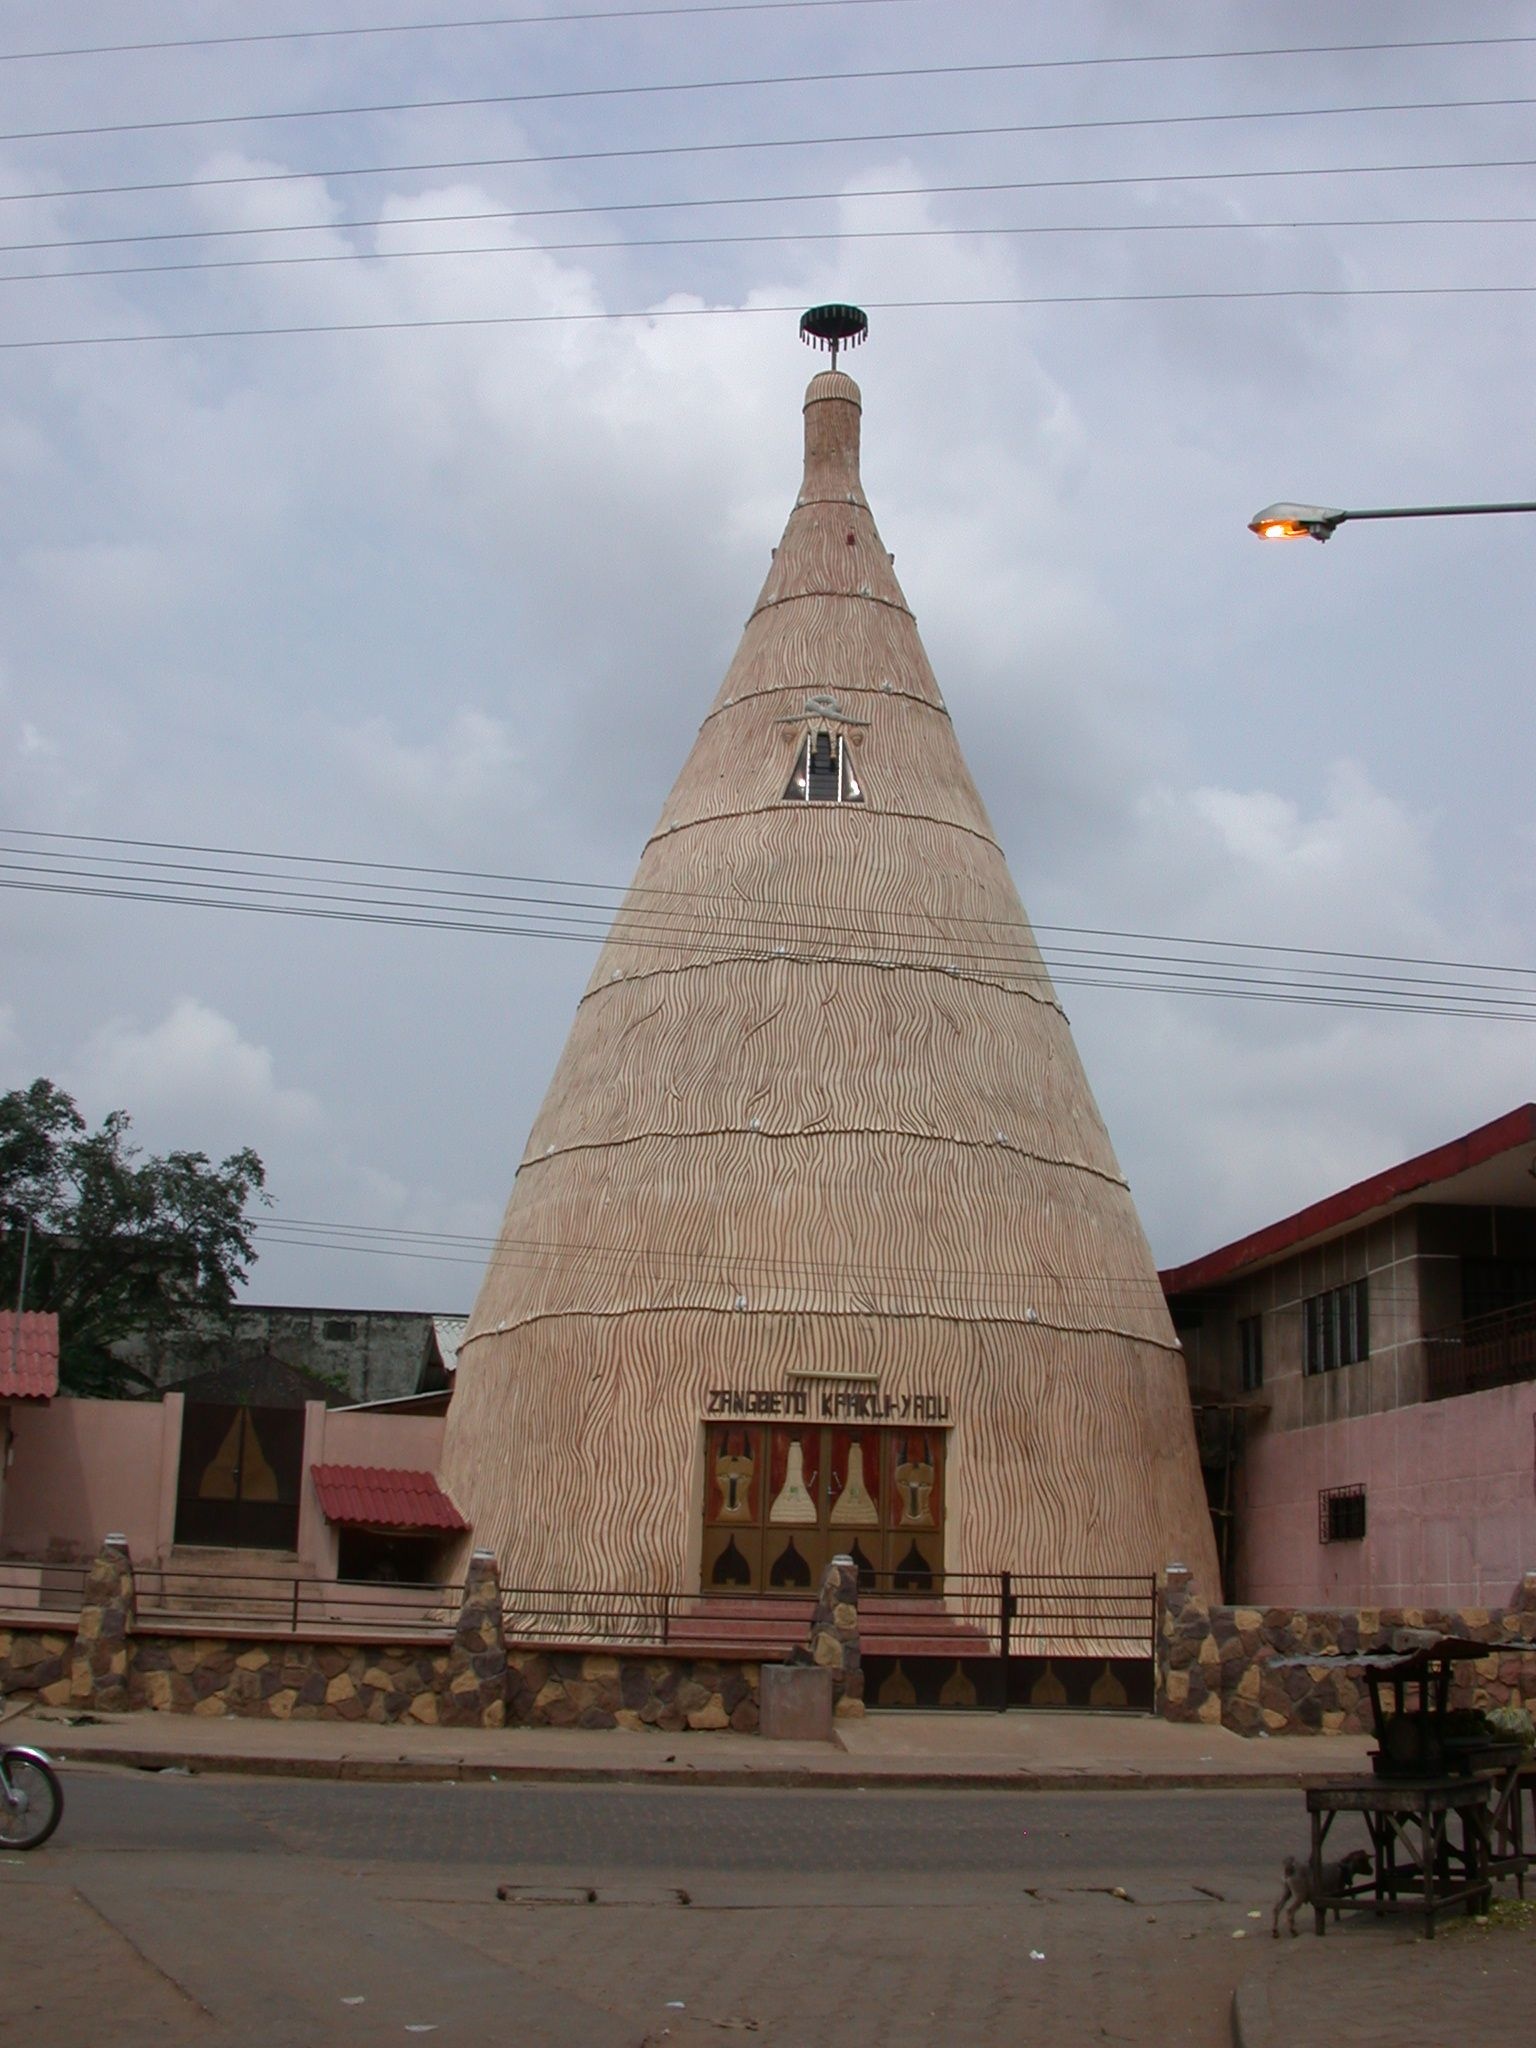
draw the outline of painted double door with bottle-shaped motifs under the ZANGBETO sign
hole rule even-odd
[[[846,1552],[864,1585],[938,1591],[944,1436],[801,1423],[711,1423],[707,1593],[813,1593]]]

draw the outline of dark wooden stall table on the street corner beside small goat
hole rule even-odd
[[[1442,1913],[1489,1903],[1489,1776],[1346,1778],[1307,1788],[1313,1825],[1313,1923],[1327,1927],[1339,1905],[1370,1905],[1372,1913],[1423,1913],[1434,1939]],[[1341,1812],[1358,1812],[1370,1831],[1372,1882],[1323,1896],[1323,1849]]]

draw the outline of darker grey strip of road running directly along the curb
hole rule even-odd
[[[1157,1874],[1264,1890],[1305,1845],[1284,1792],[719,1790],[106,1776],[70,1780],[66,1839],[115,1853],[324,1855],[367,1864],[793,1876],[899,1884]]]

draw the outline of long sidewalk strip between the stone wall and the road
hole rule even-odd
[[[1366,1737],[1245,1741],[1139,1714],[866,1714],[831,1743],[627,1729],[428,1729],[199,1714],[18,1714],[4,1739],[66,1763],[283,1778],[590,1780],[705,1786],[1272,1790],[1364,1769]]]

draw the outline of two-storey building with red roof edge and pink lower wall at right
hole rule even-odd
[[[1231,1597],[1511,1597],[1536,1563],[1536,1104],[1161,1280]]]

